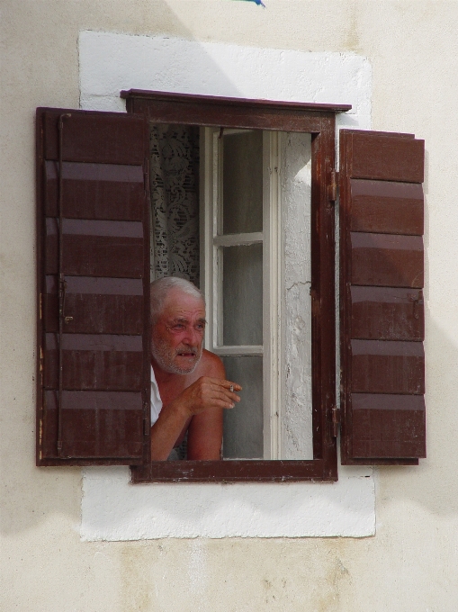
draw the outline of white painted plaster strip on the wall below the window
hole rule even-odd
[[[129,484],[129,468],[85,469],[83,540],[373,536],[373,477],[337,483]]]

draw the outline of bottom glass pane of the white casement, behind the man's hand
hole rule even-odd
[[[223,357],[226,378],[241,384],[240,402],[224,410],[223,456],[227,459],[263,457],[263,358]]]

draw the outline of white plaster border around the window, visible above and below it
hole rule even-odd
[[[370,128],[372,71],[355,54],[258,49],[82,31],[80,105],[125,112],[121,89],[350,103],[338,127]],[[130,485],[123,467],[83,470],[83,540],[373,536],[371,468],[336,483]]]

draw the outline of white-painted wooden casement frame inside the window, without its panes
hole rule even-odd
[[[238,133],[247,130],[225,130]],[[220,130],[201,130],[201,288],[212,313],[205,330],[205,347],[218,356],[263,356],[264,459],[282,455],[283,388],[283,232],[281,138],[263,131],[263,231],[222,234],[222,139]],[[220,247],[263,244],[263,345],[222,344],[222,275]]]

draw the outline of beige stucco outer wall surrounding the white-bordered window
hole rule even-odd
[[[265,4],[0,4],[2,610],[458,608],[458,4]],[[38,105],[78,107],[81,30],[355,51],[373,65],[373,129],[427,140],[429,456],[417,468],[376,471],[376,536],[82,543],[80,471],[34,467],[33,112]]]

